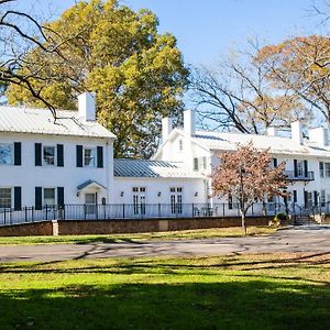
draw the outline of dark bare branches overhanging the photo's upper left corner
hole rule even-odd
[[[56,119],[55,108],[42,97],[42,90],[35,87],[33,80],[43,79],[38,75],[44,53],[63,57],[59,45],[62,40],[54,31],[33,18],[30,13],[13,10],[11,3],[15,0],[0,0],[0,87],[2,92],[9,84],[19,85],[29,90],[33,98],[40,99]],[[56,37],[56,43],[54,42]],[[28,57],[32,50],[38,50],[40,57],[35,57],[35,70],[24,73],[22,68],[31,61]],[[40,61],[38,61],[40,59]]]

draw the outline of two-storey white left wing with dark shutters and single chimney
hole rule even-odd
[[[0,107],[0,208],[112,202],[113,140],[90,94],[79,111]]]

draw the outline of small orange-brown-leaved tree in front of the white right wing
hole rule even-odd
[[[252,143],[220,155],[220,165],[212,172],[212,190],[217,197],[235,197],[246,234],[248,210],[265,196],[286,196],[285,163],[272,168],[270,150],[258,151]]]

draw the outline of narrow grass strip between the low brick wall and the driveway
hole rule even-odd
[[[276,229],[271,227],[249,227],[248,235],[272,234]],[[147,240],[193,240],[211,238],[238,238],[242,237],[241,228],[219,228],[199,229],[184,231],[133,233],[133,234],[111,234],[111,235],[66,235],[66,237],[11,237],[0,238],[0,245],[14,244],[88,244],[95,242],[118,243],[118,242],[139,242]]]

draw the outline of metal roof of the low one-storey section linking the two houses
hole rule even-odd
[[[202,175],[187,169],[183,163],[143,160],[113,160],[116,177],[180,177],[204,178]]]

